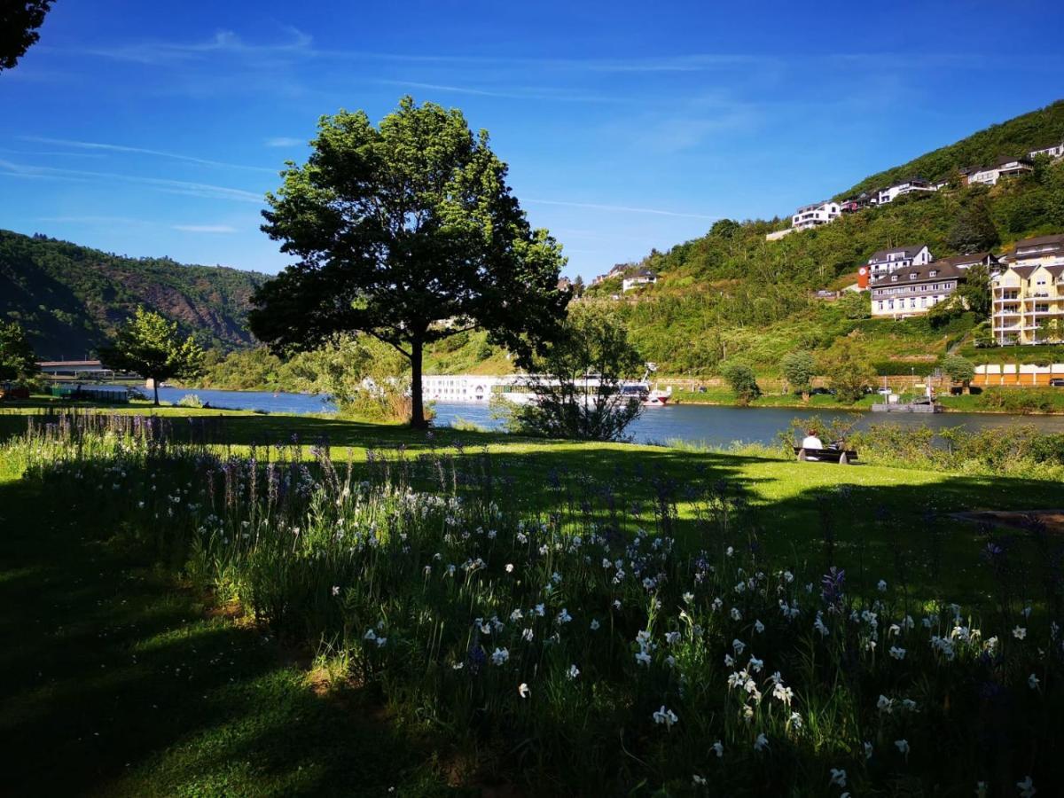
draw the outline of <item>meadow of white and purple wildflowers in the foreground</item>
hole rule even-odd
[[[985,589],[961,604],[888,565],[854,579],[830,530],[770,552],[771,506],[711,476],[548,470],[533,512],[483,451],[337,462],[299,440],[219,446],[211,423],[31,417],[3,455],[523,794],[1064,784],[1061,543],[1037,523],[1037,562],[983,536]]]

